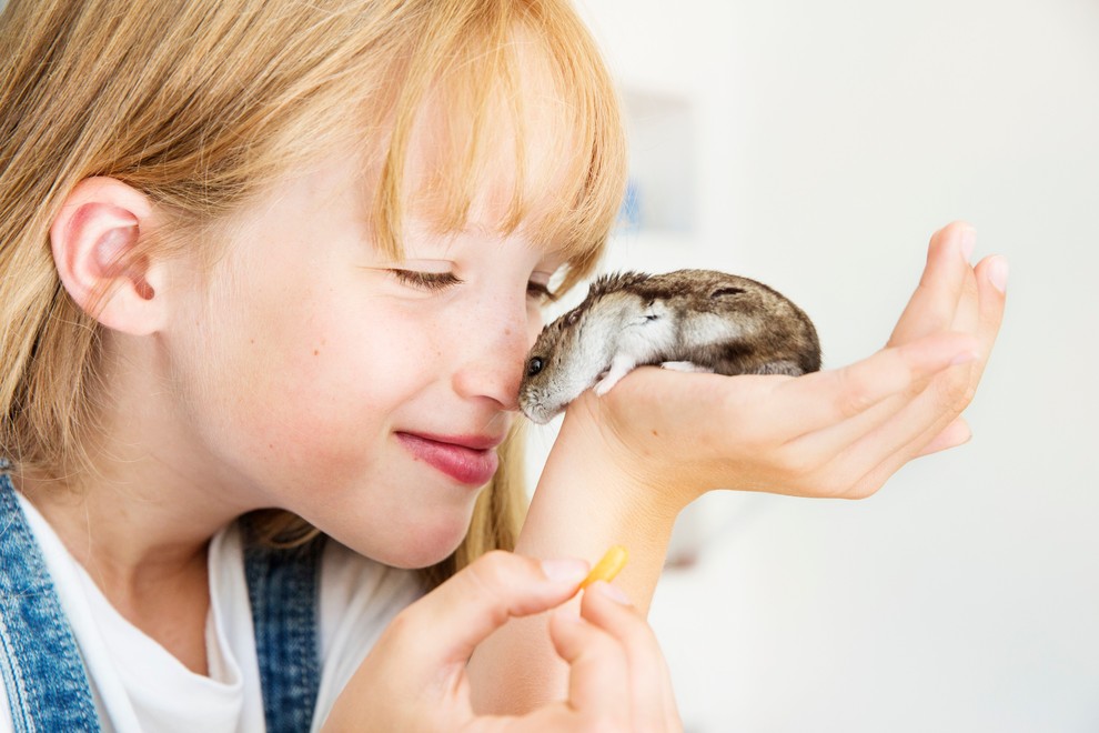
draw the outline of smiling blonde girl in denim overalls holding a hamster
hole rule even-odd
[[[967,435],[1005,270],[952,225],[863,362],[579,400],[518,532],[523,357],[625,179],[564,2],[9,0],[0,59],[17,730],[675,729],[677,512]],[[615,541],[636,606],[566,604]]]

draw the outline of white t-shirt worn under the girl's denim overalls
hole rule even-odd
[[[210,544],[209,676],[188,670],[122,617],[41,514],[17,494],[53,576],[91,680],[103,730],[256,733],[264,730],[260,670],[235,523]],[[393,616],[421,594],[415,573],[329,540],[321,561],[321,686],[313,730]],[[0,685],[0,733],[11,731]]]

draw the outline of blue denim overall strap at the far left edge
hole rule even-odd
[[[0,677],[17,733],[99,731],[75,636],[0,459]]]

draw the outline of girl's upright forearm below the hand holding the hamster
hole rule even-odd
[[[615,581],[647,612],[664,566],[678,506],[661,488],[602,451],[598,424],[572,413],[554,444],[520,535],[516,551],[540,558],[582,558],[593,564],[612,544],[629,552]],[[574,600],[569,612],[575,612]],[[513,620],[493,634],[470,664],[477,710],[520,713],[563,699],[567,666],[546,631],[548,615]]]

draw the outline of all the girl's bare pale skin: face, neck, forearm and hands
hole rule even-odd
[[[70,294],[91,310],[97,291],[110,292],[94,311],[108,329],[103,432],[89,436],[98,472],[70,481],[74,495],[41,476],[20,485],[119,611],[199,673],[205,548],[224,523],[278,505],[382,562],[430,564],[461,540],[476,486],[415,460],[395,436],[494,438],[515,419],[541,327],[537,287],[558,258],[522,229],[495,234],[491,202],[461,232],[412,227],[405,259],[382,258],[363,233],[353,160],[337,151],[243,211],[209,275],[186,257],[113,267],[162,222],[111,179],[78,185],[51,231]],[[952,224],[932,238],[889,345],[861,362],[797,380],[643,369],[576,401],[518,551],[594,561],[624,544],[631,563],[616,585],[636,608],[596,589],[582,622],[558,619],[548,636],[542,616],[508,624],[466,670],[482,637],[563,604],[585,568],[555,580],[537,563],[491,555],[399,617],[333,724],[361,722],[370,701],[374,720],[402,730],[674,730],[643,615],[676,514],[718,486],[868,495],[913,458],[964,442],[959,414],[995,340],[1004,295],[994,282],[1006,274],[996,259],[968,264],[967,231]],[[461,282],[427,290],[394,270]],[[482,328],[462,328],[471,322]],[[379,679],[396,681],[382,699],[370,693]],[[478,720],[482,707],[537,717]]]

